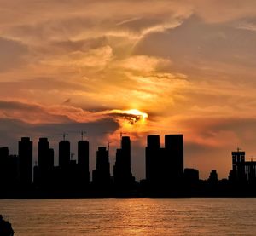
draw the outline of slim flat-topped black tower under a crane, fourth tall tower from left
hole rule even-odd
[[[79,141],[78,143],[78,170],[80,184],[88,184],[90,181],[89,141]]]

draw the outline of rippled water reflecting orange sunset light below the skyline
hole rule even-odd
[[[256,235],[256,199],[0,200],[15,236]]]

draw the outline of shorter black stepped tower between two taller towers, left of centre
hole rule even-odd
[[[101,187],[108,187],[110,184],[110,165],[106,147],[99,147],[96,152],[96,170],[92,172],[92,181]]]

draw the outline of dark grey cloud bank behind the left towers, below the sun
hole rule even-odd
[[[0,118],[0,147],[8,146],[10,153],[17,153],[18,141],[21,136],[29,136],[33,141],[33,160],[37,160],[37,143],[39,137],[48,137],[50,147],[55,149],[55,164],[58,164],[58,142],[64,132],[68,133],[67,140],[71,141],[71,150],[77,157],[77,142],[81,130],[86,131],[90,141],[90,170],[96,168],[96,148],[107,146],[107,134],[119,129],[119,124],[111,118],[90,123],[67,124],[27,124],[18,119]],[[113,163],[112,163],[113,164]]]

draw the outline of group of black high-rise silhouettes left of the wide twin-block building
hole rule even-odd
[[[89,141],[78,142],[78,158],[73,159],[70,142],[59,142],[58,166],[55,166],[55,152],[49,147],[47,138],[39,138],[38,161],[33,162],[33,143],[29,137],[19,141],[18,155],[9,155],[8,147],[0,147],[0,184],[3,189],[83,189],[90,185]],[[92,183],[96,188],[125,188],[135,184],[131,174],[131,140],[121,139],[121,147],[116,151],[113,176],[110,174],[109,150],[98,147],[96,170],[92,171]]]

